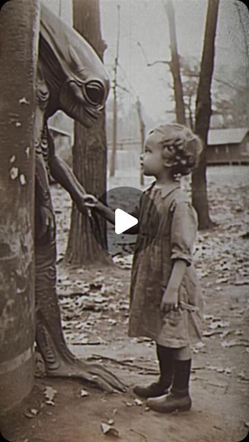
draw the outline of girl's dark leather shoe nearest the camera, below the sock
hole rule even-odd
[[[191,408],[192,401],[189,394],[177,396],[170,392],[159,398],[149,398],[146,405],[160,413],[187,412]]]

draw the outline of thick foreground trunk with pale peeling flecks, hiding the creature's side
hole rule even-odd
[[[34,381],[34,91],[39,1],[0,12],[0,410]]]

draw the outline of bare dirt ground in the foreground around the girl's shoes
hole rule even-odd
[[[129,271],[116,268],[111,273],[113,278],[119,276],[127,280]],[[161,442],[166,438],[187,442],[211,442],[217,438],[226,442],[241,441],[246,436],[245,423],[248,421],[246,345],[249,346],[249,318],[244,314],[248,294],[245,286],[239,287],[236,300],[232,300],[235,291],[230,286],[219,291],[217,297],[214,283],[212,280],[207,282],[210,286],[206,294],[209,306],[205,331],[214,334],[203,338],[203,347],[194,349],[191,375],[194,405],[190,412],[157,414],[146,410],[145,403],[136,405],[131,390],[126,394],[105,394],[80,381],[44,377],[37,378],[34,392],[21,407],[3,420],[3,434],[13,442],[108,441],[113,440],[113,436],[104,435],[100,425],[112,419],[112,426],[119,431],[121,440],[127,442]],[[231,300],[234,306],[232,310]],[[217,318],[218,309],[221,327],[210,329],[209,325],[215,324],[211,318]],[[130,386],[136,382],[150,383],[157,372],[154,345],[147,340],[137,343],[126,338],[125,333],[122,335],[121,319],[117,317],[117,323],[110,326],[111,333],[104,323],[103,329],[98,329],[98,333],[108,342],[73,345],[72,349],[83,357],[97,355],[99,363],[110,367]],[[221,343],[233,346],[223,347]],[[108,361],[108,358],[114,361]],[[153,372],[155,374],[151,374]],[[46,404],[43,392],[48,386],[57,390],[54,406]],[[81,397],[82,389],[87,390],[89,395]],[[32,415],[30,410],[37,410],[37,415]]]

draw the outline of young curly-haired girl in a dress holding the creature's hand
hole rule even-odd
[[[135,251],[132,264],[129,336],[155,340],[160,376],[157,382],[137,385],[133,391],[148,398],[152,410],[164,413],[189,410],[192,402],[190,343],[200,338],[203,303],[192,264],[197,215],[180,189],[178,177],[197,166],[201,150],[199,137],[190,129],[165,124],[149,133],[141,157],[144,175],[156,178],[144,195],[157,206],[159,229],[150,245],[141,247],[153,222],[151,217],[146,218],[141,202],[137,214],[140,251]],[[86,206],[114,223],[114,213],[92,195],[86,195]]]

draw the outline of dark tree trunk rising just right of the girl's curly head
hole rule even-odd
[[[206,183],[206,145],[212,113],[211,83],[215,61],[215,34],[217,28],[219,0],[208,1],[206,29],[203,41],[201,73],[197,90],[195,133],[201,138],[204,148],[199,167],[192,174],[192,204],[199,216],[199,229],[212,225],[208,212],[208,193]]]

